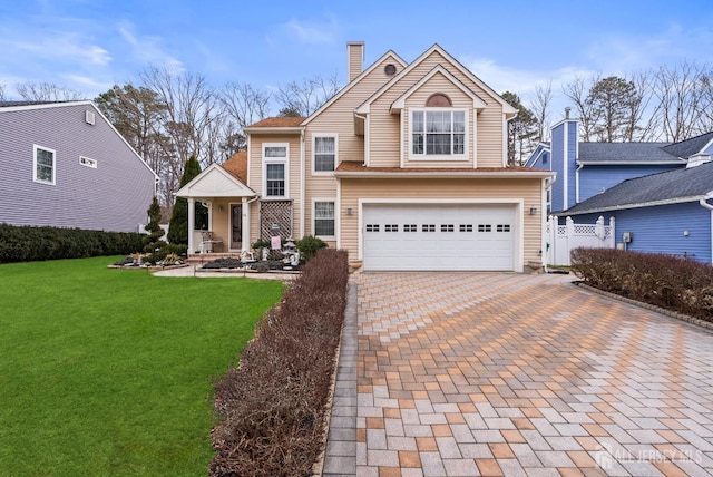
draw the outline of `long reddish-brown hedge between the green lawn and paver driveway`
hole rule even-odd
[[[324,249],[257,324],[240,366],[216,384],[212,476],[309,476],[324,420],[349,280]]]

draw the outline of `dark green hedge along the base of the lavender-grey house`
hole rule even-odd
[[[80,259],[139,252],[143,235],[0,224],[0,263]]]

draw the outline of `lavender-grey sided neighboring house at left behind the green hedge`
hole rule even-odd
[[[0,101],[0,223],[137,232],[156,174],[91,101]]]

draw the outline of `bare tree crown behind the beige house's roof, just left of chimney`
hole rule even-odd
[[[329,78],[314,76],[302,82],[292,81],[281,86],[277,91],[282,116],[310,116],[339,91],[336,75]]]

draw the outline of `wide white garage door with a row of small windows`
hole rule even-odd
[[[364,270],[511,271],[515,206],[368,204]]]

